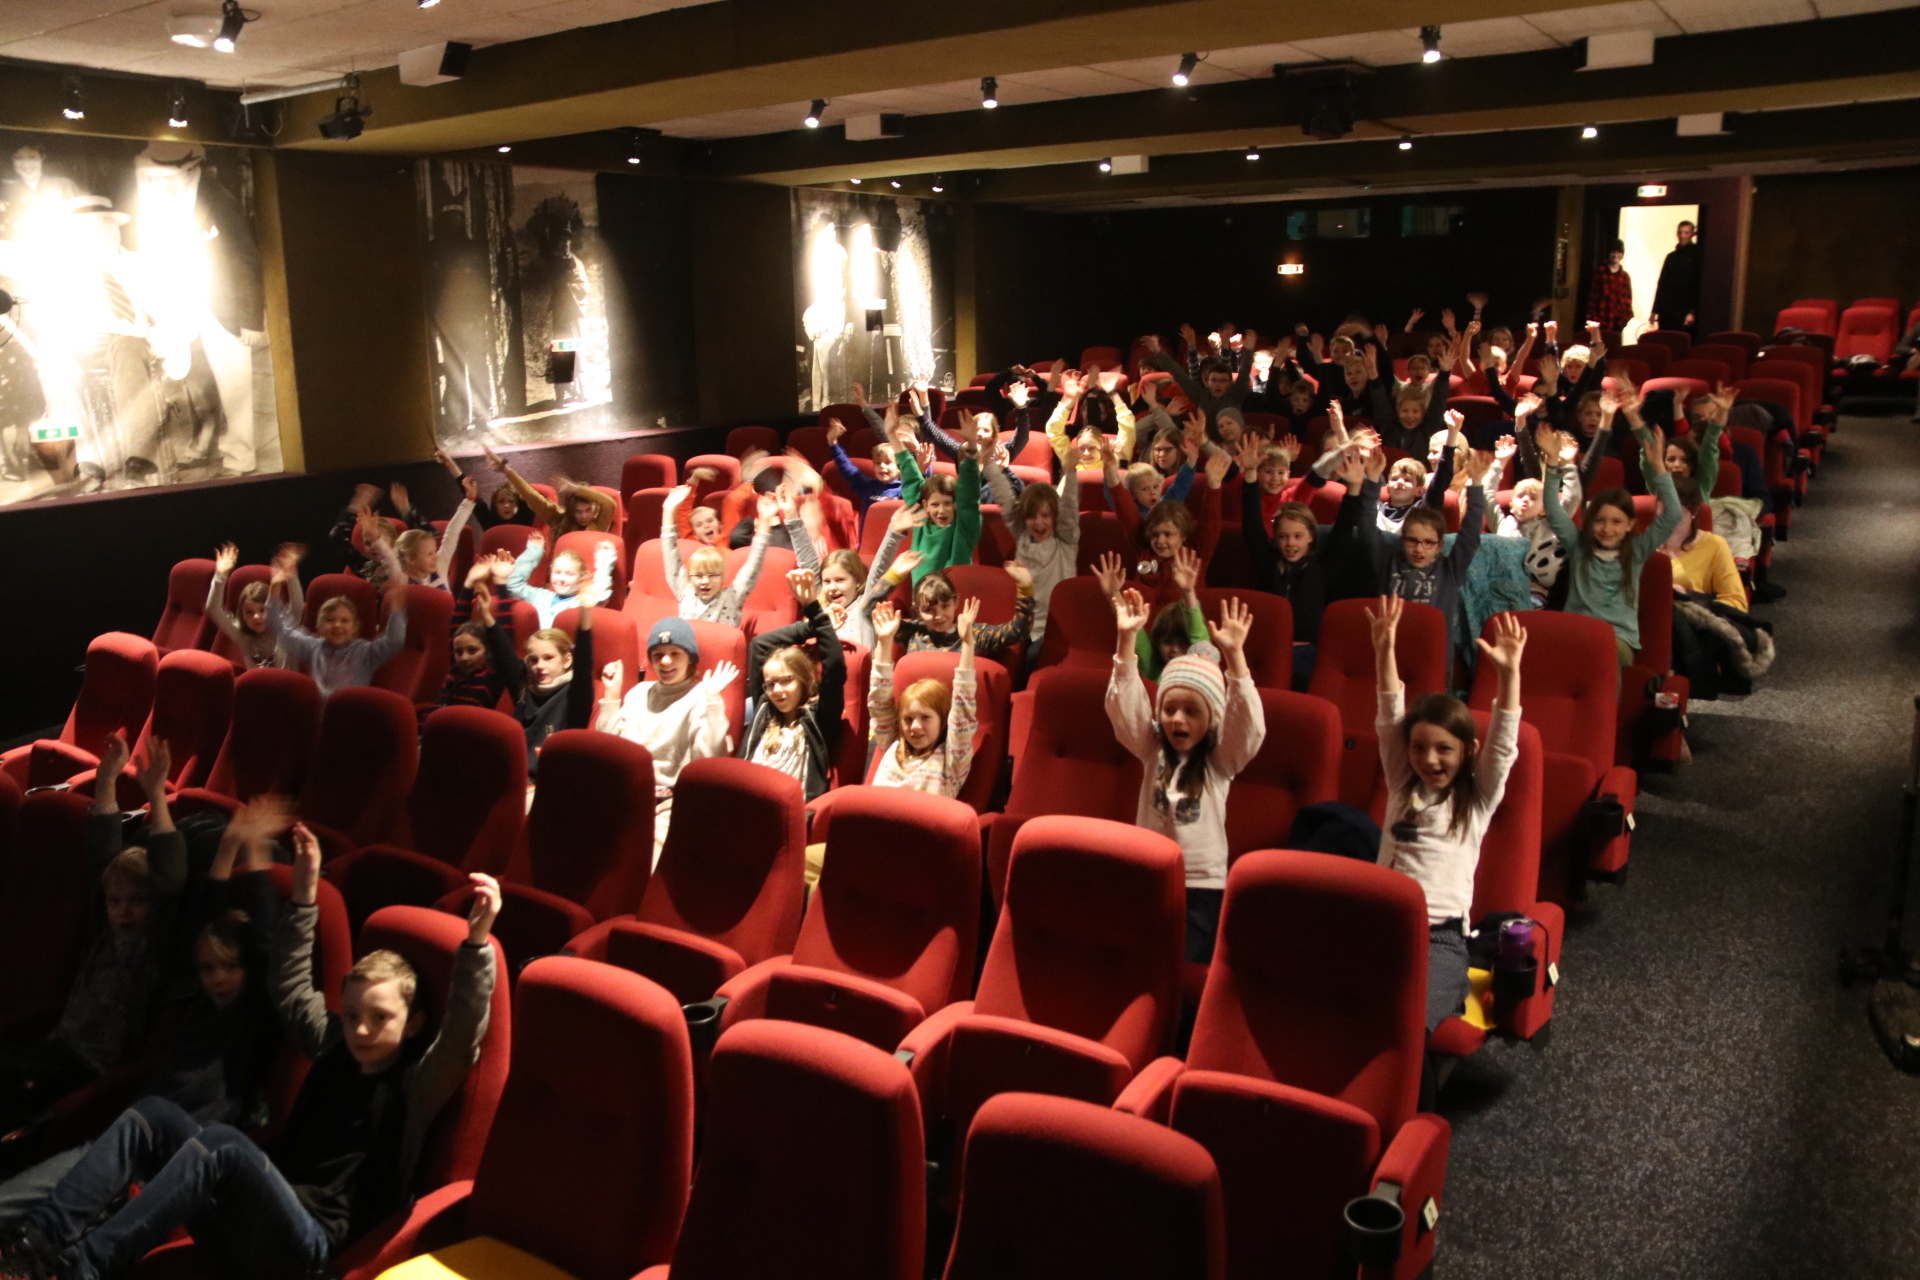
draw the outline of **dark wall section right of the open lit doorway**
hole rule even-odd
[[[1747,324],[1770,330],[1797,297],[1920,301],[1920,169],[1753,180]]]

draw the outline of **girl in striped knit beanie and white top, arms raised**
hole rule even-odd
[[[1219,624],[1208,624],[1221,662],[1198,652],[1169,660],[1152,706],[1135,651],[1148,612],[1131,587],[1114,597],[1119,639],[1106,714],[1121,747],[1146,766],[1135,823],[1171,837],[1187,860],[1187,960],[1206,963],[1213,960],[1227,890],[1227,787],[1267,737],[1267,716],[1246,668],[1254,610],[1223,599]]]

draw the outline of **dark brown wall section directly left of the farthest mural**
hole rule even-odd
[[[793,416],[791,205],[785,186],[687,184],[701,422]]]

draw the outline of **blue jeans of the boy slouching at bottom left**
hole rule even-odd
[[[140,1194],[88,1230],[132,1182]],[[69,1251],[81,1280],[129,1274],[182,1224],[232,1276],[305,1280],[330,1255],[326,1230],[265,1151],[230,1125],[202,1128],[165,1098],[123,1111],[27,1221]]]

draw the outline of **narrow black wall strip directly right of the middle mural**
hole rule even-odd
[[[697,422],[687,186],[603,173],[595,194],[612,267],[607,328],[614,418],[630,430]]]

